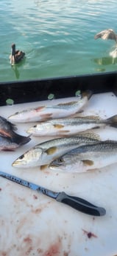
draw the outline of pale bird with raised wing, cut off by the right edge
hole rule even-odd
[[[99,38],[104,40],[112,39],[116,41],[115,49],[112,52],[110,52],[110,56],[112,56],[113,58],[117,58],[117,34],[114,32],[114,30],[112,30],[111,28],[107,30],[102,30],[94,36],[94,39]]]

